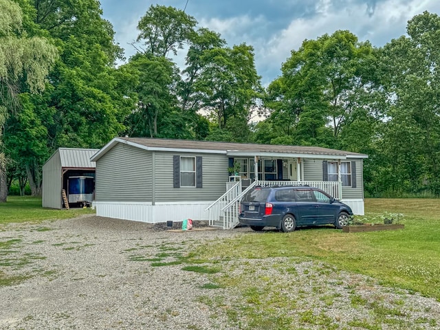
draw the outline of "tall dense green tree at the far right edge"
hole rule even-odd
[[[382,50],[388,105],[380,141],[382,190],[440,195],[439,30],[440,17],[423,12],[408,21],[408,36]]]

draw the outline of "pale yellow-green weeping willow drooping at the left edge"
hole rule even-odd
[[[56,48],[47,39],[28,37],[22,30],[21,9],[10,0],[0,0],[0,144],[8,113],[19,109],[20,91],[45,88],[45,77],[56,59]],[[0,202],[6,201],[6,156],[0,145]]]

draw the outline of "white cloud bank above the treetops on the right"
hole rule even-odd
[[[373,45],[382,46],[406,34],[408,20],[424,10],[439,12],[440,3],[388,0],[376,3],[374,14],[371,14],[371,6],[366,3],[347,1],[347,6],[341,10],[330,0],[320,0],[313,17],[293,19],[287,28],[274,33],[265,44],[256,47],[257,67],[272,73],[272,77],[263,77],[263,83],[267,85],[275,78],[291,50],[298,50],[305,39],[316,39],[336,30],[349,30],[360,41],[369,40]]]

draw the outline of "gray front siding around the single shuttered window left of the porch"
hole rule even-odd
[[[173,188],[173,155],[202,157],[203,188]],[[212,153],[155,151],[155,202],[214,201],[226,191],[228,157]]]

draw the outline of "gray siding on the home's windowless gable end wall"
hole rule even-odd
[[[96,162],[96,201],[152,201],[151,152],[116,144]]]

